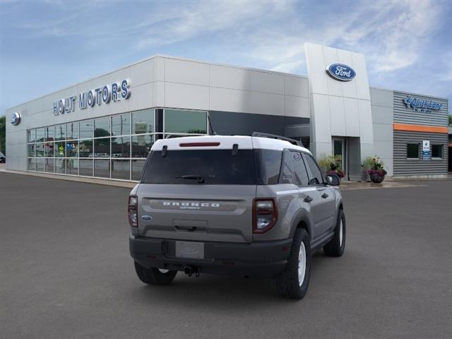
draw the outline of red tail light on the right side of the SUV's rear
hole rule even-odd
[[[274,198],[258,198],[253,201],[253,233],[265,233],[278,220],[278,208]]]

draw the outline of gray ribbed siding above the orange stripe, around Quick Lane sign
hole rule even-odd
[[[411,107],[406,107],[403,99],[408,97],[418,97],[419,99],[433,100],[440,102],[440,110],[432,112],[415,112]],[[428,126],[448,126],[448,100],[439,97],[428,97],[426,95],[417,95],[408,92],[394,91],[394,122],[400,124],[418,124]]]

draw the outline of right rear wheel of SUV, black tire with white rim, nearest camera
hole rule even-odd
[[[276,278],[276,288],[280,297],[303,299],[311,276],[311,243],[306,230],[295,231],[287,268]]]

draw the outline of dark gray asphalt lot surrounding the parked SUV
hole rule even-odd
[[[136,278],[129,189],[0,172],[1,338],[452,338],[452,181],[343,192],[347,247],[307,297],[271,280]]]

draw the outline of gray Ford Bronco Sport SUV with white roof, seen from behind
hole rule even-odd
[[[177,271],[274,278],[281,296],[302,299],[311,254],[344,252],[338,184],[283,137],[158,140],[129,196],[136,274],[150,285]]]

